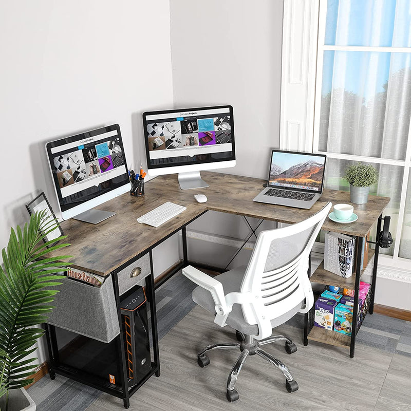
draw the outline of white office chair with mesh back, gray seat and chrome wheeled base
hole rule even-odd
[[[258,235],[250,261],[216,277],[192,266],[182,273],[196,283],[192,294],[195,303],[215,314],[220,327],[230,325],[236,330],[239,343],[213,344],[198,353],[200,367],[210,364],[206,353],[216,349],[241,351],[227,381],[227,399],[238,400],[235,384],[248,356],[257,354],[286,377],[289,393],[298,389],[286,365],[264,351],[261,346],[285,341],[287,353],[297,350],[284,335],[273,335],[272,329],[288,321],[297,312],[306,313],[314,304],[307,274],[309,254],[331,202],[304,221],[288,227],[263,231]]]

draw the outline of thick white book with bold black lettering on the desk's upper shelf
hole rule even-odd
[[[348,235],[326,233],[324,241],[324,269],[343,278],[352,275],[356,240]]]

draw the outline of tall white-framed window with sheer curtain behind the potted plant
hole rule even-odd
[[[320,0],[318,38],[313,152],[327,154],[327,188],[348,190],[347,164],[374,165],[394,238],[380,252],[411,270],[411,2]]]

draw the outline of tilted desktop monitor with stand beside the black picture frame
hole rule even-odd
[[[97,223],[115,213],[92,210],[130,190],[118,124],[46,144],[63,219]]]

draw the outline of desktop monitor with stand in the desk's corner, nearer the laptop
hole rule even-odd
[[[235,165],[230,105],[148,111],[143,127],[148,174],[178,173],[182,190],[209,186],[201,170]]]

